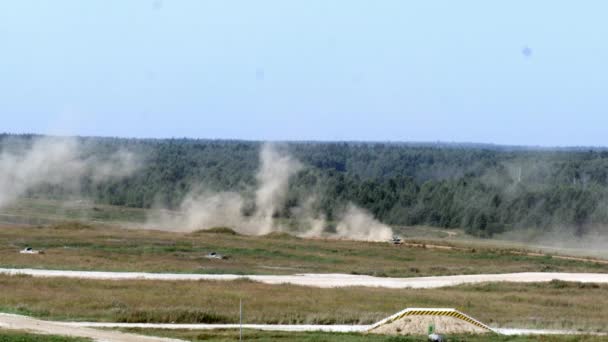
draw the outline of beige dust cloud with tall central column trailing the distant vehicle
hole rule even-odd
[[[197,187],[188,194],[176,212],[155,210],[146,226],[174,231],[196,231],[226,226],[239,233],[263,235],[272,232],[295,233],[302,237],[324,237],[366,241],[388,240],[390,227],[378,222],[368,212],[348,204],[340,215],[335,232],[327,230],[326,219],[315,214],[315,196],[292,210],[297,229],[275,219],[284,206],[289,180],[303,165],[275,144],[264,144],[260,150],[260,167],[256,173],[253,211],[244,214],[247,200],[236,192],[209,192]],[[159,208],[157,208],[159,209]]]

